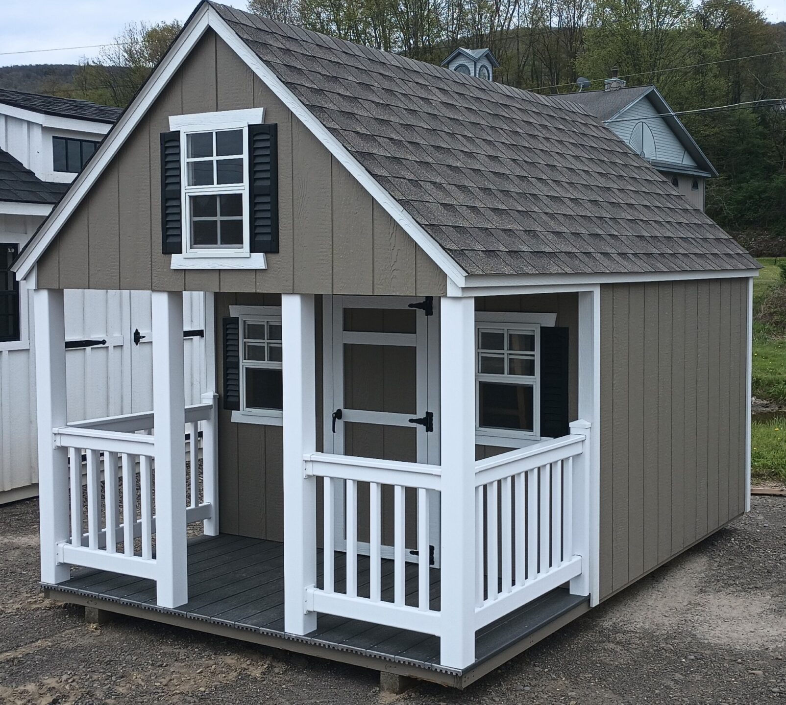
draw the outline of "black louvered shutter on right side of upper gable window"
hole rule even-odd
[[[251,251],[278,251],[277,125],[248,126]]]

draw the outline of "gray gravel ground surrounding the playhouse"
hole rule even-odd
[[[45,601],[37,504],[0,507],[2,703],[786,703],[786,498],[464,692]]]

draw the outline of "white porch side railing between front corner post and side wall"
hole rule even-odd
[[[585,444],[571,433],[476,462],[476,629],[581,575]]]

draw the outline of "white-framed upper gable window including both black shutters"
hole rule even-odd
[[[163,253],[173,268],[266,268],[277,251],[276,126],[263,108],[173,115],[161,136]]]

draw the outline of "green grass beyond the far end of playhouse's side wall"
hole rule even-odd
[[[753,280],[753,396],[786,404],[786,283],[775,258]],[[755,480],[786,481],[786,417],[751,425],[751,473]]]

